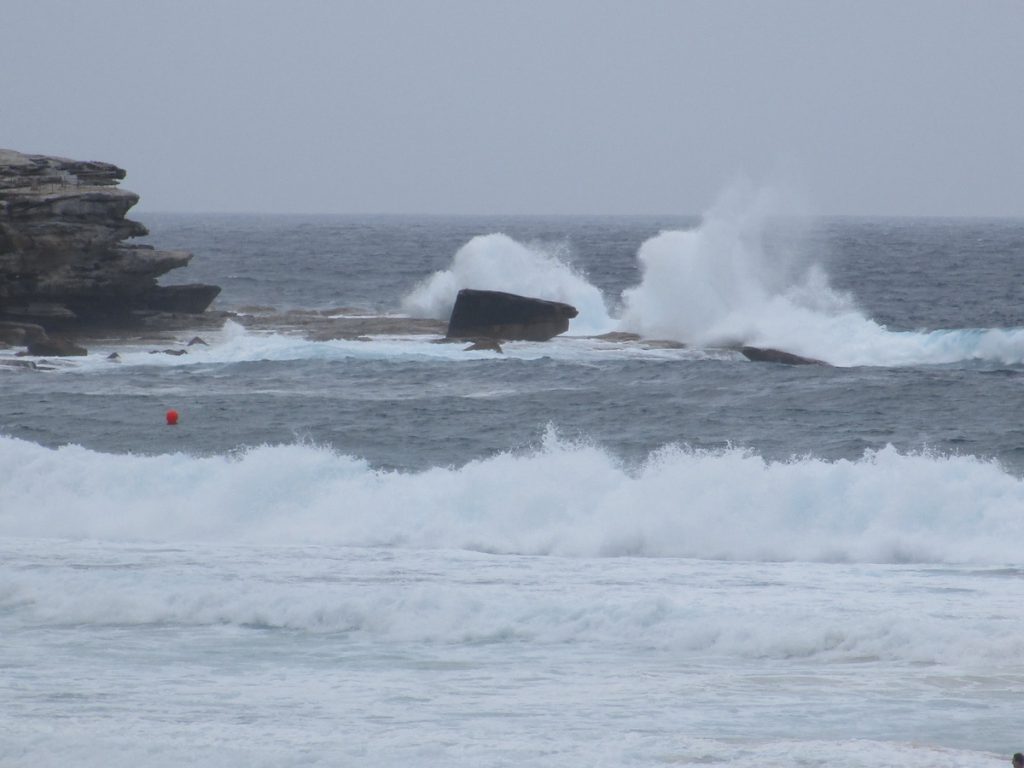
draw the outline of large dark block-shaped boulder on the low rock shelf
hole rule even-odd
[[[464,288],[452,308],[447,338],[547,341],[565,333],[578,313],[558,301]]]

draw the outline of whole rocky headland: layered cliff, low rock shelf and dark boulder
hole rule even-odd
[[[124,176],[111,163],[0,150],[0,347],[24,346],[35,356],[81,355],[85,345],[101,339],[104,346],[152,342],[163,347],[155,352],[186,354],[185,347],[202,339],[185,344],[181,332],[190,336],[231,318],[252,330],[316,341],[412,334],[501,352],[505,341],[548,341],[563,334],[577,316],[568,304],[474,289],[459,292],[447,323],[367,316],[346,307],[212,311],[218,286],[157,283],[188,264],[190,253],[126,242],[148,230],[126,218],[139,197],[120,188]],[[623,333],[596,338],[645,348],[685,346]],[[757,361],[826,365],[777,349],[728,348]],[[7,357],[0,362],[35,367]]]

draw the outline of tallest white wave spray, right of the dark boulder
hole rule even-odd
[[[804,257],[772,190],[727,191],[700,225],[665,231],[637,254],[620,330],[697,346],[776,347],[836,366],[1024,362],[1024,329],[894,332],[867,317]],[[799,232],[798,232],[799,233]],[[783,237],[779,237],[783,236]]]

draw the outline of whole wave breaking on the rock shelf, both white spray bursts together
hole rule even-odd
[[[844,367],[1024,365],[1024,328],[891,331],[867,316],[852,295],[831,287],[799,230],[768,237],[786,212],[779,201],[771,189],[738,185],[698,226],[650,238],[637,252],[640,284],[618,300],[603,297],[556,251],[488,234],[460,249],[403,309],[446,317],[460,289],[481,288],[573,304],[573,335],[616,330],[699,348],[774,347]],[[611,316],[607,306],[621,312]]]

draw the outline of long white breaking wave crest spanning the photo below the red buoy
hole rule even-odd
[[[668,446],[628,470],[549,432],[536,452],[382,472],[309,445],[194,458],[0,438],[0,535],[330,543],[527,555],[1012,563],[1024,482],[971,457],[770,462]]]

